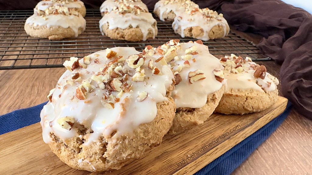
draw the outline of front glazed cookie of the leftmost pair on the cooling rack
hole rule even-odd
[[[41,16],[27,18],[24,29],[32,37],[60,40],[77,37],[85,30],[86,21],[75,9],[52,6]]]

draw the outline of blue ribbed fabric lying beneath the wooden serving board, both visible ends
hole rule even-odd
[[[39,122],[40,111],[46,103],[0,116],[0,134]],[[291,107],[291,103],[288,102],[286,110],[280,116],[216,158],[195,175],[226,175],[232,173],[285,120],[290,113]]]

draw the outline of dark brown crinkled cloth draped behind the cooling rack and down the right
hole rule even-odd
[[[82,0],[99,8],[103,0]],[[281,64],[282,92],[298,112],[312,120],[312,15],[280,0],[193,0],[199,7],[223,13],[236,30],[264,38],[261,52]],[[39,0],[0,0],[0,10],[32,9]],[[157,0],[143,0],[150,10]]]

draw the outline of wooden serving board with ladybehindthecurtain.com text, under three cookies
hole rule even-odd
[[[39,123],[0,135],[0,172],[13,174],[193,174],[266,125],[286,108],[278,97],[266,111],[247,115],[213,114],[180,134],[165,135],[162,144],[120,170],[101,173],[70,168],[42,140]]]

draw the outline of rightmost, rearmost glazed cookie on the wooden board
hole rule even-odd
[[[227,90],[215,112],[246,114],[267,109],[277,101],[279,81],[266,72],[266,67],[231,54],[222,57]]]

